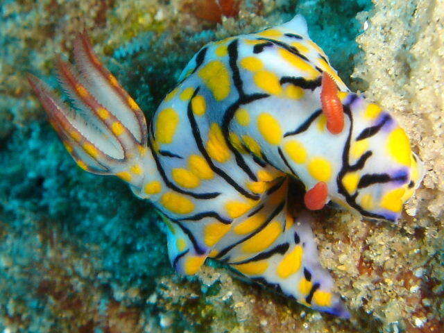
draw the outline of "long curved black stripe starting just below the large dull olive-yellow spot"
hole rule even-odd
[[[225,180],[225,182],[228,182],[228,184],[230,184],[232,187],[234,187],[234,189],[236,189],[243,196],[246,196],[247,198],[250,198],[253,200],[258,200],[259,196],[255,195],[255,194],[251,194],[250,192],[246,191],[246,189],[239,186],[237,184],[237,182],[235,182],[232,178],[230,178],[230,176],[228,176],[223,170],[216,167],[216,165],[214,164],[214,162],[212,161],[212,159],[208,155],[207,151],[205,150],[205,146],[203,146],[203,142],[202,142],[202,137],[200,137],[200,130],[197,126],[196,119],[194,119],[193,110],[191,109],[191,100],[193,99],[194,96],[196,96],[199,89],[200,89],[200,87],[197,87],[196,90],[194,90],[194,94],[188,103],[187,114],[188,114],[188,119],[189,119],[189,125],[191,126],[191,132],[193,133],[194,141],[196,142],[196,145],[198,146],[200,153],[203,155],[203,157],[207,161],[207,163],[210,166],[210,168],[212,169],[212,171],[214,171],[219,176],[221,176]]]

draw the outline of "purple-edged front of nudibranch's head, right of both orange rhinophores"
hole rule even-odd
[[[342,94],[350,128],[336,177],[339,200],[367,218],[396,221],[422,180],[422,162],[391,114],[363,96]]]

